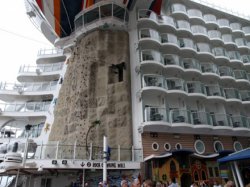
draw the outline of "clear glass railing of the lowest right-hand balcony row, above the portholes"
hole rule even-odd
[[[171,124],[187,123],[191,125],[210,125],[221,127],[250,128],[250,117],[232,116],[214,112],[198,112],[197,110],[167,109],[145,106],[144,122],[166,122]]]

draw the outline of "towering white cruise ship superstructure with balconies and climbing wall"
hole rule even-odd
[[[250,144],[248,18],[191,0],[25,4],[62,53],[1,85],[3,143],[26,142],[19,165],[2,168],[17,182],[96,186],[104,135],[110,185],[237,181],[217,159]]]

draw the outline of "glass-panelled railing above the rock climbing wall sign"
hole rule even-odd
[[[77,142],[73,144],[62,144],[60,142],[49,142],[48,144],[28,143],[29,149],[27,159],[72,159],[72,160],[102,160],[103,147],[92,144],[81,145]],[[88,151],[87,151],[88,150]],[[110,160],[112,161],[141,161],[142,150],[132,147],[110,147]]]

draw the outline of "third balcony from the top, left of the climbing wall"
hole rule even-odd
[[[42,95],[53,96],[58,81],[33,83],[5,83],[0,84],[0,99],[12,100],[18,96],[33,96],[32,99],[41,98]]]

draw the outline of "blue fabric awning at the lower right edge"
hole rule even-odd
[[[230,161],[245,160],[245,159],[250,159],[250,148],[220,158],[218,159],[218,162],[230,162]]]

